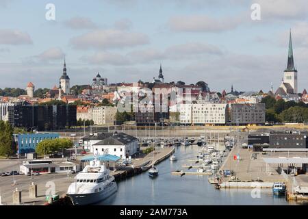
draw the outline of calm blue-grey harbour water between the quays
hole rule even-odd
[[[144,172],[121,181],[118,192],[99,205],[289,205],[284,197],[272,196],[270,189],[262,189],[261,198],[252,198],[249,189],[216,190],[207,176],[171,175],[195,159],[198,150],[198,146],[180,146],[175,152],[177,161],[166,159],[157,166],[157,178],[151,179]]]

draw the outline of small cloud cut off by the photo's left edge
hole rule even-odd
[[[0,29],[0,44],[20,45],[32,43],[29,34],[26,32],[14,29]]]

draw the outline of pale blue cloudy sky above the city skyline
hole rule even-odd
[[[301,92],[307,18],[307,0],[0,0],[0,88],[52,88],[65,56],[71,86],[98,72],[109,83],[153,81],[162,64],[166,82],[268,92],[280,86],[292,29]]]

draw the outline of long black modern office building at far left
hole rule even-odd
[[[76,125],[75,105],[14,105],[8,107],[12,127],[52,131]]]

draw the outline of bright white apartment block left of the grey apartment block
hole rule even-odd
[[[182,124],[226,124],[228,106],[225,103],[190,104],[181,107],[180,114]]]

